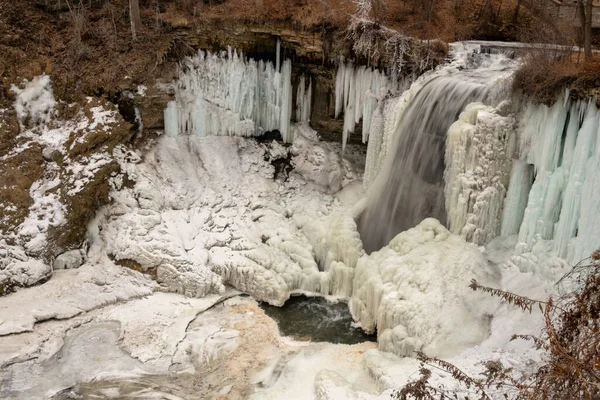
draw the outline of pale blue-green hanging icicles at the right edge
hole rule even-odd
[[[600,112],[593,102],[560,100],[552,107],[527,108],[518,132],[520,153],[536,177],[530,190],[523,185],[514,194],[523,198],[528,192],[518,253],[551,241],[557,256],[575,262],[600,246],[599,124]],[[519,212],[508,208],[513,201],[507,198],[507,217]],[[507,228],[506,233],[512,232]]]

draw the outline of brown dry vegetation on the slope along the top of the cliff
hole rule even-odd
[[[207,24],[279,24],[318,35],[337,32],[332,40],[336,43],[344,41],[357,11],[351,0],[139,0],[132,4],[139,4],[139,21],[137,12],[130,13],[130,0],[3,2],[0,81],[4,91],[9,82],[41,73],[52,74],[55,93],[65,100],[80,93],[118,92],[159,76],[168,78],[175,63],[193,50],[187,41],[190,33]],[[556,26],[540,2],[533,0],[374,0],[373,4],[369,18],[403,37],[569,44],[576,39],[572,26]]]

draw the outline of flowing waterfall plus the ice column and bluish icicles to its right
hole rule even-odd
[[[516,61],[453,50],[452,63],[375,109],[359,221],[365,249],[435,217],[476,244],[518,235],[517,254],[587,257],[600,247],[595,102],[508,100]]]

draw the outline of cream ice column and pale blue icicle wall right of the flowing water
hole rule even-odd
[[[470,104],[450,127],[449,229],[479,244],[517,234],[516,253],[534,263],[588,257],[600,247],[600,112],[565,99],[509,110]]]

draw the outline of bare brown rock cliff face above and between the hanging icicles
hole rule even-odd
[[[179,26],[177,37],[190,51],[219,52],[228,46],[243,52],[247,57],[275,61],[277,42],[282,58],[292,60],[293,101],[300,77],[312,83],[311,126],[325,137],[341,137],[342,120],[334,119],[336,58],[349,54],[344,37],[336,31],[316,32],[293,29],[289,24],[240,23],[223,25],[205,23],[196,26]],[[336,38],[337,43],[336,42]],[[340,40],[341,39],[341,40]],[[149,84],[144,97],[135,98],[146,129],[163,129],[162,110],[172,100],[169,84],[176,79],[176,66],[165,69],[157,84]],[[308,81],[307,81],[308,82]],[[132,104],[133,106],[133,104]],[[295,107],[292,118],[295,119]],[[356,137],[360,137],[356,135]]]

